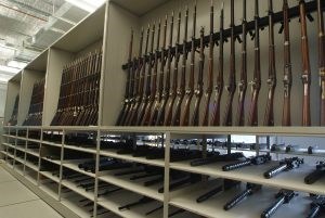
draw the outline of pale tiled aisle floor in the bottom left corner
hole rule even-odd
[[[62,218],[0,163],[0,218]]]

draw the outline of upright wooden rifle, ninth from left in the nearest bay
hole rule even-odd
[[[172,126],[180,126],[181,123],[181,106],[185,95],[185,86],[186,86],[186,60],[187,60],[187,51],[186,51],[186,43],[187,43],[187,25],[188,25],[188,8],[185,11],[185,25],[184,25],[184,39],[183,39],[183,51],[182,51],[182,73],[181,73],[181,81],[178,88],[178,101],[176,104],[174,114],[172,117],[171,125]]]

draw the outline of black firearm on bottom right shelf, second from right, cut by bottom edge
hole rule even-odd
[[[283,204],[288,204],[295,197],[295,195],[296,194],[294,191],[280,191],[275,195],[276,201],[261,214],[261,218],[271,217],[280,206]]]

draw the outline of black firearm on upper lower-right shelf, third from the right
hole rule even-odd
[[[270,154],[259,155],[251,158],[247,158],[246,161],[239,161],[233,164],[227,164],[222,167],[223,171],[230,171],[233,169],[238,169],[242,167],[250,166],[250,165],[262,165],[271,161]]]

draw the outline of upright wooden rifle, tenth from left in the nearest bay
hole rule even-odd
[[[192,98],[194,94],[194,72],[195,72],[195,31],[196,31],[196,1],[194,5],[194,13],[193,13],[193,34],[192,34],[192,46],[191,46],[191,72],[190,72],[190,79],[187,84],[187,89],[185,94],[187,99],[185,101],[183,118],[181,120],[181,126],[188,126],[190,123],[190,107]]]

